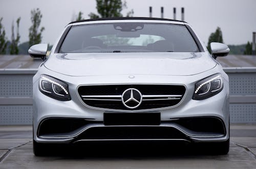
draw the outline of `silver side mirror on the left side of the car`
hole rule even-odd
[[[48,44],[37,44],[29,48],[28,52],[32,58],[45,59],[47,53]]]

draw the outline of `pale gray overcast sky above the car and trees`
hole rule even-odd
[[[210,33],[221,27],[226,44],[244,44],[252,41],[256,32],[255,0],[126,0],[127,11],[134,10],[134,16],[148,17],[148,8],[153,7],[153,17],[160,17],[164,7],[164,17],[173,18],[176,7],[177,19],[181,19],[181,7],[185,8],[185,21],[200,38],[207,43]],[[55,43],[63,28],[79,11],[88,19],[90,12],[96,13],[95,0],[0,0],[0,17],[8,39],[11,39],[11,24],[20,20],[20,42],[28,41],[31,26],[30,11],[39,8],[42,13],[42,43]]]

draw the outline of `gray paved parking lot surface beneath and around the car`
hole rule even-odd
[[[0,126],[0,168],[256,168],[256,125],[230,129],[228,155],[161,142],[53,147],[47,156],[36,157],[31,126]]]

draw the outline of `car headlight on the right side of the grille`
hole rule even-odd
[[[223,89],[223,82],[220,73],[206,77],[195,84],[193,95],[194,100],[203,100],[214,96]]]

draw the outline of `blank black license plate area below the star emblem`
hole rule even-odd
[[[103,115],[104,125],[160,125],[160,112],[112,113]]]

